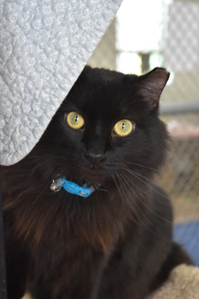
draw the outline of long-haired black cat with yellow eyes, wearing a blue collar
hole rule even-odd
[[[152,183],[168,78],[85,67],[36,147],[1,166],[8,299],[143,299],[190,262]]]

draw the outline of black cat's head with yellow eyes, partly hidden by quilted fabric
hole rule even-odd
[[[168,78],[162,68],[137,76],[85,67],[39,142],[54,173],[102,183],[159,169],[167,133],[158,105]]]

